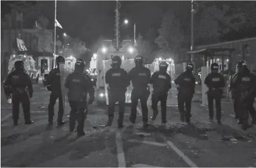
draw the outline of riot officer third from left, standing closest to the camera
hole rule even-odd
[[[87,92],[90,95],[88,104],[94,101],[94,87],[91,78],[87,74],[83,74],[85,61],[77,59],[75,63],[75,71],[66,77],[65,87],[69,89],[68,100],[71,112],[69,115],[69,130],[73,132],[75,129],[75,121],[77,119],[77,136],[84,135],[84,120],[87,111]]]

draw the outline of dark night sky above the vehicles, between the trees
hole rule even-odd
[[[31,2],[31,1],[30,1]],[[119,1],[121,39],[133,38],[133,25],[136,23],[136,34],[145,35],[150,27],[159,28],[162,13],[175,8],[175,1]],[[2,3],[2,1],[1,1]],[[7,2],[12,3],[12,2]],[[48,28],[53,28],[54,1],[43,1],[42,13],[49,19]],[[184,14],[190,16],[190,1],[180,1]],[[114,38],[114,10],[116,1],[57,1],[57,20],[64,28],[58,28],[61,35],[66,32],[72,38],[80,38],[90,47],[100,36]],[[5,3],[1,5],[1,14],[8,13]],[[124,19],[128,25],[122,25]],[[24,28],[32,27],[35,19],[25,20]],[[188,20],[189,21],[189,20]]]

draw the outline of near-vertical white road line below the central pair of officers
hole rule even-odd
[[[117,144],[118,167],[126,167],[123,141],[122,141],[122,136],[119,129],[116,132],[116,144]]]

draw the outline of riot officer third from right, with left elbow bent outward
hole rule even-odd
[[[180,111],[180,120],[182,122],[184,122],[184,119],[186,122],[190,122],[191,118],[191,102],[195,93],[195,77],[192,74],[193,69],[194,65],[188,63],[185,72],[181,73],[177,79],[175,79],[175,84],[178,86],[178,107]]]

